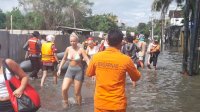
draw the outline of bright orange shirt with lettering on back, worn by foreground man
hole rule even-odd
[[[116,48],[109,47],[93,56],[86,74],[96,75],[95,108],[105,110],[126,108],[126,72],[133,81],[139,80],[140,72],[135,68],[131,58]]]

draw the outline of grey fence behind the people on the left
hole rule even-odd
[[[70,45],[68,37],[66,35],[56,35],[55,45],[58,52],[65,51],[65,48]],[[23,46],[28,38],[28,34],[10,34],[8,31],[0,31],[0,57],[11,58],[17,62],[23,61],[25,56]]]

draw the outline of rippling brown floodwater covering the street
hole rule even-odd
[[[127,112],[199,112],[200,76],[186,76],[181,72],[182,53],[163,51],[158,58],[158,70],[140,70],[142,78],[133,88],[127,78]],[[52,75],[40,88],[40,79],[30,81],[38,90],[42,107],[38,112],[93,112],[94,82],[85,79],[82,88],[83,104],[77,106],[73,98],[73,85],[69,91],[70,107],[62,108],[61,84],[53,84]],[[87,83],[86,83],[87,82]]]

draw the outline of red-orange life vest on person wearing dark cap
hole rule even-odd
[[[36,38],[36,37],[32,37],[28,40],[28,51],[29,51],[29,54],[39,54],[40,53],[40,50],[37,48],[37,41],[39,39]]]

